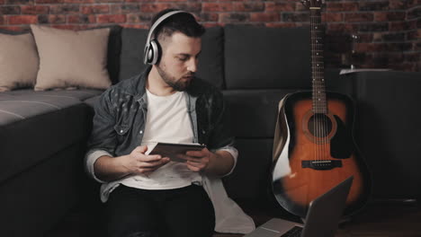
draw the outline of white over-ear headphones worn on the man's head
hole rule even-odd
[[[145,50],[143,51],[143,63],[148,65],[155,65],[157,64],[157,60],[159,58],[159,48],[158,48],[158,42],[157,39],[155,39],[154,31],[157,28],[157,26],[166,20],[166,18],[177,14],[177,13],[187,13],[184,11],[173,11],[169,13],[165,13],[161,17],[158,18],[157,22],[155,22],[149,30],[148,33],[148,40],[145,45]],[[154,39],[151,39],[152,35],[154,35]]]

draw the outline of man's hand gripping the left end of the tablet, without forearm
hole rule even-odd
[[[130,154],[120,157],[120,164],[130,174],[145,174],[156,171],[159,167],[169,162],[168,157],[161,157],[161,155],[145,154],[148,151],[148,146],[138,146]]]

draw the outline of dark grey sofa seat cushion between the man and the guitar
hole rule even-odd
[[[237,138],[273,138],[279,101],[295,90],[223,91]]]

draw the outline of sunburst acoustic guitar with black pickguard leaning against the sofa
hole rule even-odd
[[[353,215],[371,192],[369,171],[354,143],[354,102],[326,91],[322,3],[302,2],[310,11],[312,91],[288,94],[280,102],[271,189],[284,209],[304,218],[313,199],[354,175],[344,213]]]

